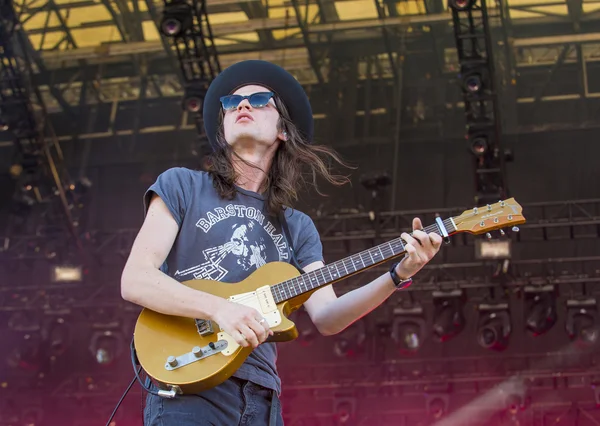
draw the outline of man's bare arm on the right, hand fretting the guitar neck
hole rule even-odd
[[[408,256],[396,268],[402,278],[415,275],[439,251],[442,238],[437,234],[420,231],[423,226],[419,219],[413,220],[413,237],[404,233]],[[323,267],[323,262],[307,265],[306,272]],[[315,291],[304,303],[311,320],[323,335],[341,332],[353,322],[362,318],[381,305],[396,290],[389,273],[381,275],[369,284],[337,297],[332,286]]]

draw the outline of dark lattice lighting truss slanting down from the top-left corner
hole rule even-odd
[[[33,206],[32,201],[37,201],[45,208],[40,216],[52,218],[55,210],[52,201],[60,203],[68,231],[81,250],[74,212],[64,192],[70,182],[69,173],[64,167],[60,143],[54,136],[52,120],[46,117],[44,99],[33,81],[34,65],[27,54],[30,47],[23,41],[25,36],[19,33],[20,27],[13,2],[0,2],[0,120],[2,127],[13,135],[17,157],[10,169],[11,175],[18,179],[13,195],[13,217],[23,221],[24,213]],[[38,110],[39,113],[35,113]],[[38,123],[38,115],[42,116],[39,121],[43,125]],[[51,135],[50,143],[48,135]],[[55,223],[47,225],[56,226]]]

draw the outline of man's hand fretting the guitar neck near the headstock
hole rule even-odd
[[[396,273],[400,278],[408,279],[433,259],[440,250],[442,237],[435,232],[424,232],[421,219],[417,217],[413,219],[412,237],[406,232],[402,233],[401,237],[407,243],[404,247],[406,257],[396,267]]]

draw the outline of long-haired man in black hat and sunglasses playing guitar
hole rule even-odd
[[[264,343],[272,334],[268,324],[252,308],[179,282],[202,278],[227,285],[272,261],[295,262],[305,272],[322,267],[312,220],[289,206],[305,169],[313,182],[321,175],[344,183],[322,156],[341,160],[312,144],[308,97],[274,64],[244,61],[227,68],[211,83],[203,114],[213,148],[208,172],[169,169],[148,189],[122,295],[163,314],[214,320],[238,344],[255,349],[232,378],[208,391],[172,400],[148,395],[145,424],[281,425],[276,347]],[[407,256],[390,273],[340,298],[331,286],[310,297],[305,308],[321,334],[344,330],[431,260],[441,237],[420,231],[418,219],[413,228],[412,237],[402,234]]]

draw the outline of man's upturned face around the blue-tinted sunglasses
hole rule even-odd
[[[239,88],[232,94],[247,96],[269,91],[263,86],[249,85]],[[223,118],[225,140],[233,147],[238,144],[246,145],[249,142],[271,146],[283,140],[283,135],[277,130],[278,122],[279,112],[272,98],[262,108],[253,108],[250,101],[244,99],[236,109],[225,111]]]

